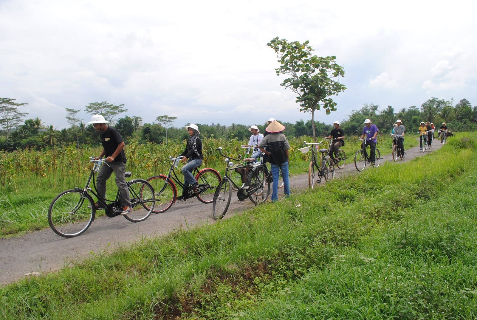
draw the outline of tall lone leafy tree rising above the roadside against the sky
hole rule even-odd
[[[315,111],[322,107],[326,114],[336,110],[337,103],[330,96],[338,95],[346,87],[339,83],[344,77],[344,69],[336,63],[335,56],[318,57],[312,55],[310,41],[288,42],[286,39],[273,38],[267,46],[272,48],[279,58],[280,68],[275,69],[277,76],[289,76],[280,83],[281,86],[298,94],[296,102],[300,103],[300,112],[311,113],[313,139],[315,135]]]

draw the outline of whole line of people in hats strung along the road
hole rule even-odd
[[[104,119],[101,114],[95,114],[92,116],[91,121],[88,124],[93,124],[94,128],[99,132],[101,137],[101,143],[103,145],[103,151],[96,157],[100,159],[106,157],[106,160],[110,165],[104,165],[101,167],[97,175],[97,186],[100,196],[105,196],[106,193],[106,180],[109,179],[114,172],[116,178],[115,182],[121,191],[123,215],[127,215],[131,211],[131,203],[129,197],[129,191],[124,178],[126,156],[124,154],[124,141],[119,132],[113,127],[108,126],[109,121]],[[258,161],[259,157],[262,157],[262,162],[270,162],[271,173],[273,177],[272,188],[272,202],[278,200],[278,180],[280,171],[282,172],[285,196],[290,196],[290,184],[288,179],[288,165],[290,144],[286,136],[283,134],[285,126],[277,122],[274,118],[270,118],[266,124],[264,134],[260,134],[260,130],[256,125],[252,125],[249,131],[252,133],[249,139],[249,146],[253,148],[251,157]],[[370,119],[364,121],[364,127],[361,135],[361,139],[366,137],[366,143],[370,146],[370,160],[374,163],[375,149],[376,149],[376,136],[378,134],[378,128],[372,123]],[[330,142],[329,154],[333,157],[338,155],[339,148],[344,145],[344,131],[340,128],[340,122],[333,122],[334,128],[331,130],[327,139],[333,139]],[[183,156],[182,161],[187,162],[182,166],[181,172],[184,175],[184,190],[182,196],[177,197],[177,200],[185,200],[187,198],[186,191],[194,189],[197,186],[197,181],[192,175],[194,168],[199,167],[202,164],[202,141],[199,138],[200,131],[196,124],[189,124],[185,127],[189,134],[185,150],[180,154]],[[420,136],[420,148],[423,148],[424,143],[427,142],[429,147],[432,147],[432,140],[434,138],[435,126],[430,122],[422,121],[419,127]],[[441,137],[441,143],[443,136],[447,131],[446,123],[442,123],[438,131],[438,136]],[[444,132],[444,134],[443,134]],[[401,120],[396,120],[394,128],[392,129],[393,144],[398,145],[402,158],[404,158],[404,125]],[[262,156],[263,154],[263,156]],[[95,203],[97,210],[104,208],[105,204]]]

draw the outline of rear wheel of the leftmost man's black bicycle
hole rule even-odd
[[[147,219],[154,210],[154,188],[143,179],[131,180],[127,184],[129,186],[132,210],[123,217],[131,222],[143,221]]]

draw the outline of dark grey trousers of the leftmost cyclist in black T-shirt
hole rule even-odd
[[[110,166],[111,167],[110,167]],[[111,174],[114,171],[116,176],[116,186],[118,186],[120,196],[120,206],[131,206],[131,197],[129,196],[129,188],[126,184],[126,163],[125,162],[108,162],[103,164],[101,169],[96,175],[96,190],[98,191],[98,196],[106,197],[106,181],[109,179]],[[104,201],[98,198],[100,205],[104,206]]]

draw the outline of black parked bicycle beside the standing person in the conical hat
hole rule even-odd
[[[217,150],[225,158],[227,167],[222,181],[214,194],[212,206],[212,216],[214,219],[218,220],[227,213],[230,200],[232,199],[232,186],[237,188],[239,200],[249,197],[250,201],[256,205],[264,203],[270,195],[271,184],[271,175],[267,166],[259,162],[256,163],[254,158],[247,158],[243,160],[245,164],[234,167],[234,163],[230,160],[240,161],[241,155],[238,159],[235,159],[222,154],[222,147],[218,147]],[[229,172],[232,171],[239,173],[241,186],[230,178]]]

